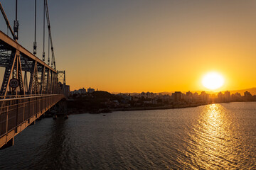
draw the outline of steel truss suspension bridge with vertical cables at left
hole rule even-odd
[[[45,36],[45,18],[48,24],[48,64],[45,62],[45,38],[43,37],[43,60],[36,57],[36,0],[35,0],[35,41],[33,54],[18,44],[18,20],[16,0],[16,20],[11,29],[4,8],[0,10],[6,21],[12,38],[0,31],[0,67],[4,72],[0,81],[0,148],[14,145],[14,137],[36,119],[46,113],[59,101],[65,100],[65,79],[58,80],[58,73],[63,77],[65,71],[57,71],[50,33],[50,19],[47,0],[43,6],[43,36]],[[51,57],[50,57],[51,52]],[[51,58],[51,66],[50,66]],[[65,75],[64,75],[65,77]]]

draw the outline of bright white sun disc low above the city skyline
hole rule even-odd
[[[224,78],[216,72],[210,72],[203,77],[202,84],[207,89],[215,90],[223,86]]]

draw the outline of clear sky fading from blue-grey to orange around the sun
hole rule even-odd
[[[15,0],[1,0],[11,26]],[[71,90],[110,92],[206,90],[218,72],[237,90],[256,84],[256,1],[51,0],[57,69]],[[33,50],[34,1],[18,0],[18,42]],[[43,44],[38,0],[38,46]],[[0,29],[6,33],[0,16]],[[38,47],[38,57],[42,48]]]

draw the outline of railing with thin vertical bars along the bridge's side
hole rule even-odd
[[[63,97],[63,95],[53,94],[1,99],[0,137],[28,121],[34,115],[47,111]]]

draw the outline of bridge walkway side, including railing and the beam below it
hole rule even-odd
[[[0,148],[14,145],[14,137],[18,133],[34,123],[62,98],[65,98],[63,94],[47,94],[0,99]]]

